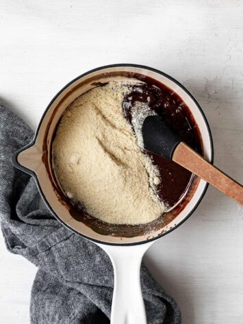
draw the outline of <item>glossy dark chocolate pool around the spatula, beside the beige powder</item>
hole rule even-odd
[[[131,123],[131,108],[136,102],[146,103],[152,111],[162,116],[166,123],[192,149],[202,153],[199,130],[196,127],[186,103],[164,84],[153,83],[149,79],[146,84],[133,86],[131,93],[123,101],[124,114]],[[157,186],[159,197],[170,207],[175,205],[184,194],[192,180],[192,173],[172,160],[167,160],[153,153],[146,152],[153,164],[159,169],[162,182]]]

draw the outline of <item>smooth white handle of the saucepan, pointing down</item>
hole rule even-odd
[[[152,244],[125,247],[99,244],[110,256],[114,267],[111,324],[146,324],[140,266],[144,253]]]

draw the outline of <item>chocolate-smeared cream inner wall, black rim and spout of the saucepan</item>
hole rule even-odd
[[[52,168],[51,145],[60,117],[77,97],[96,86],[97,82],[131,78],[133,73],[141,75],[141,78],[145,75],[156,79],[183,99],[199,126],[204,156],[208,161],[212,162],[212,136],[207,120],[192,95],[168,75],[146,66],[131,64],[103,66],[77,77],[77,79],[65,86],[44,112],[33,142],[16,152],[13,158],[13,162],[18,169],[22,169],[35,177],[42,198],[59,221],[77,234],[105,244],[140,244],[149,240],[155,240],[171,232],[172,229],[181,225],[194,212],[207,188],[205,181],[195,178],[184,202],[174,212],[149,225],[137,225],[135,227],[127,225],[110,226],[99,221],[97,222],[79,210],[73,212],[73,206],[71,206],[70,201],[64,197],[64,193],[60,190]]]

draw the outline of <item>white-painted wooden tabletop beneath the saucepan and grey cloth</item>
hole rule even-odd
[[[199,101],[215,164],[243,183],[243,1],[0,0],[0,98],[33,129],[62,86],[90,68],[153,66]],[[243,209],[209,188],[145,262],[184,324],[243,323]],[[36,268],[0,245],[0,323],[29,323]],[[50,323],[51,324],[51,323]]]

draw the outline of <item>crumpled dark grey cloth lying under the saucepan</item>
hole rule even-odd
[[[38,209],[34,179],[10,162],[33,136],[0,104],[1,229],[8,250],[38,266],[31,290],[31,323],[110,323],[114,284],[110,259],[97,245],[63,227],[49,210]],[[148,323],[181,323],[177,303],[144,265],[141,280]]]

